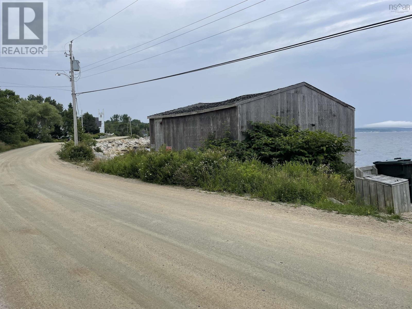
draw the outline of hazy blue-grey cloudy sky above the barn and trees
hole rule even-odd
[[[67,42],[133,1],[49,0],[47,49],[68,50]],[[241,1],[137,1],[73,41],[73,54],[81,67],[76,91],[115,87],[193,70],[402,15],[389,9],[389,5],[398,4],[395,1],[309,0],[248,23],[303,0],[246,0],[236,5]],[[233,5],[236,6],[227,9]],[[224,9],[227,10],[204,19]],[[412,10],[404,14],[412,14]],[[144,44],[200,19],[204,20]],[[215,35],[243,23],[248,24]],[[206,26],[180,35],[202,25]],[[168,40],[176,35],[180,36]],[[215,36],[168,52],[211,35]],[[160,43],[164,40],[168,41]],[[131,49],[138,45],[141,46]],[[131,50],[122,53],[127,49]],[[144,50],[137,52],[141,49]],[[133,52],[137,53],[126,56]],[[164,52],[167,53],[155,56]],[[100,61],[118,53],[122,54]],[[105,64],[122,56],[126,57]],[[146,59],[152,56],[155,57]],[[91,65],[96,61],[100,62]],[[136,61],[139,62],[124,66]],[[80,94],[78,105],[83,112],[95,116],[104,109],[106,119],[115,113],[126,113],[148,122],[148,115],[165,110],[223,101],[304,81],[355,107],[356,127],[412,127],[411,61],[412,19],[409,19],[218,68]],[[119,66],[124,67],[89,76]],[[0,67],[68,70],[70,62],[64,52],[49,52],[47,57],[0,57]],[[0,69],[0,81],[1,89],[13,89],[22,97],[42,94],[65,106],[71,102],[70,91],[6,87],[17,86],[6,82],[70,86],[65,76],[55,76],[54,71]],[[61,89],[70,90],[70,87]]]

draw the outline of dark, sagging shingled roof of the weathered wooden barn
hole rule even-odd
[[[208,110],[210,108],[216,108],[216,107],[220,107],[220,106],[224,106],[224,105],[233,106],[232,104],[239,103],[241,101],[247,101],[247,100],[248,101],[253,101],[253,100],[250,100],[250,99],[253,99],[255,97],[262,96],[262,95],[265,95],[265,94],[274,94],[274,93],[286,91],[288,89],[293,89],[293,88],[300,87],[300,86],[310,87],[311,89],[314,89],[314,90],[320,92],[321,94],[323,94],[325,96],[328,96],[329,98],[332,98],[334,101],[337,101],[338,103],[340,103],[342,105],[345,105],[345,106],[348,106],[348,107],[350,106],[350,105],[338,100],[337,98],[334,98],[334,97],[330,96],[329,94],[317,89],[316,87],[311,86],[310,84],[308,84],[306,82],[301,82],[299,84],[294,84],[294,85],[291,85],[291,86],[288,86],[288,87],[278,88],[278,89],[275,89],[275,90],[260,92],[260,93],[257,93],[257,94],[244,94],[243,96],[236,96],[236,98],[231,98],[231,99],[225,100],[225,101],[213,102],[213,103],[196,103],[196,104],[188,105],[188,106],[185,106],[185,107],[175,108],[174,110],[167,110],[166,112],[160,112],[160,113],[155,114],[155,115],[150,115],[150,116],[147,116],[147,118],[157,118],[157,117],[160,118],[162,116],[173,117],[172,115],[192,114],[192,113],[195,114],[195,113],[201,112],[203,110]],[[227,107],[231,107],[231,106],[227,106]],[[353,108],[352,106],[350,106],[350,107]]]

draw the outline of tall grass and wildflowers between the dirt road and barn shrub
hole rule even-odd
[[[222,150],[141,150],[96,160],[90,170],[151,183],[248,194],[268,201],[316,204],[327,197],[340,201],[354,197],[353,182],[328,166],[315,168],[296,162],[269,165],[254,159],[241,162]]]

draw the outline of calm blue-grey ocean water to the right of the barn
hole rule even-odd
[[[393,158],[412,159],[412,132],[355,133],[355,166],[372,165]]]

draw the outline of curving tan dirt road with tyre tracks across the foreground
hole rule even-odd
[[[0,308],[411,308],[412,224],[0,154]]]

